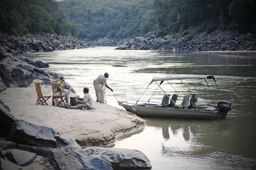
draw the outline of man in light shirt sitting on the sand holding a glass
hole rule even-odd
[[[93,98],[91,97],[91,95],[89,93],[89,88],[84,87],[83,93],[85,94],[83,101],[76,99],[76,102],[78,102],[78,104],[76,106],[65,105],[65,108],[66,109],[82,109],[82,110],[91,109],[91,107],[93,107]]]

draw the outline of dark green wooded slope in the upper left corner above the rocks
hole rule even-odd
[[[72,24],[54,0],[1,0],[0,30],[8,34],[57,33],[75,35]]]

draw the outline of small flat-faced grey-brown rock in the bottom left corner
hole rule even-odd
[[[27,166],[33,163],[37,157],[36,153],[13,149],[4,154],[9,161],[19,166]]]

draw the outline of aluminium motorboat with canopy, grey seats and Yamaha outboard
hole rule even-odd
[[[185,95],[180,94],[176,88],[172,85],[171,81],[181,81],[188,89],[188,93]],[[185,80],[185,81],[184,81]],[[192,82],[195,84],[194,88],[189,88],[185,82]],[[199,82],[198,82],[199,81]],[[167,94],[165,90],[161,88],[161,84],[164,82],[169,83],[174,89],[175,94],[172,96]],[[215,82],[218,90],[219,99],[217,104],[214,104],[212,99],[212,93],[209,87],[211,82]],[[157,89],[161,89],[164,93],[162,102],[156,101],[142,101],[140,98],[146,92],[148,87],[152,84],[157,84]],[[203,85],[203,86],[202,86]],[[215,86],[214,85],[214,86]],[[209,97],[211,98],[211,105],[197,106],[197,100],[200,93],[204,90],[209,90]],[[181,119],[226,119],[227,114],[231,111],[231,103],[228,101],[221,100],[219,89],[214,76],[177,76],[177,77],[157,77],[153,78],[147,86],[144,93],[138,100],[126,100],[118,101],[118,104],[124,107],[127,111],[132,112],[140,117],[167,117],[167,118],[181,118]],[[194,93],[198,91],[199,93]],[[155,93],[154,93],[155,94]],[[153,95],[154,95],[153,94]],[[152,95],[152,96],[153,96]],[[191,98],[190,98],[191,95]],[[182,97],[182,103],[177,104],[177,98]]]

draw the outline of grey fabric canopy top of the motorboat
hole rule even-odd
[[[207,85],[208,85],[207,79],[213,79],[214,82],[216,82],[214,76],[178,76],[178,77],[156,77],[152,79],[149,85],[153,82],[159,82],[159,81],[161,81],[160,83],[161,85],[164,81],[168,81],[168,80],[186,80],[186,79],[204,79]]]

